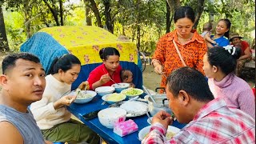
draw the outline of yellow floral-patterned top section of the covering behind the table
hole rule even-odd
[[[117,48],[120,61],[138,62],[138,52],[134,42],[119,41],[118,38],[96,26],[56,26],[39,30],[50,34],[59,44],[69,50],[82,65],[102,62],[98,51],[104,47]]]

